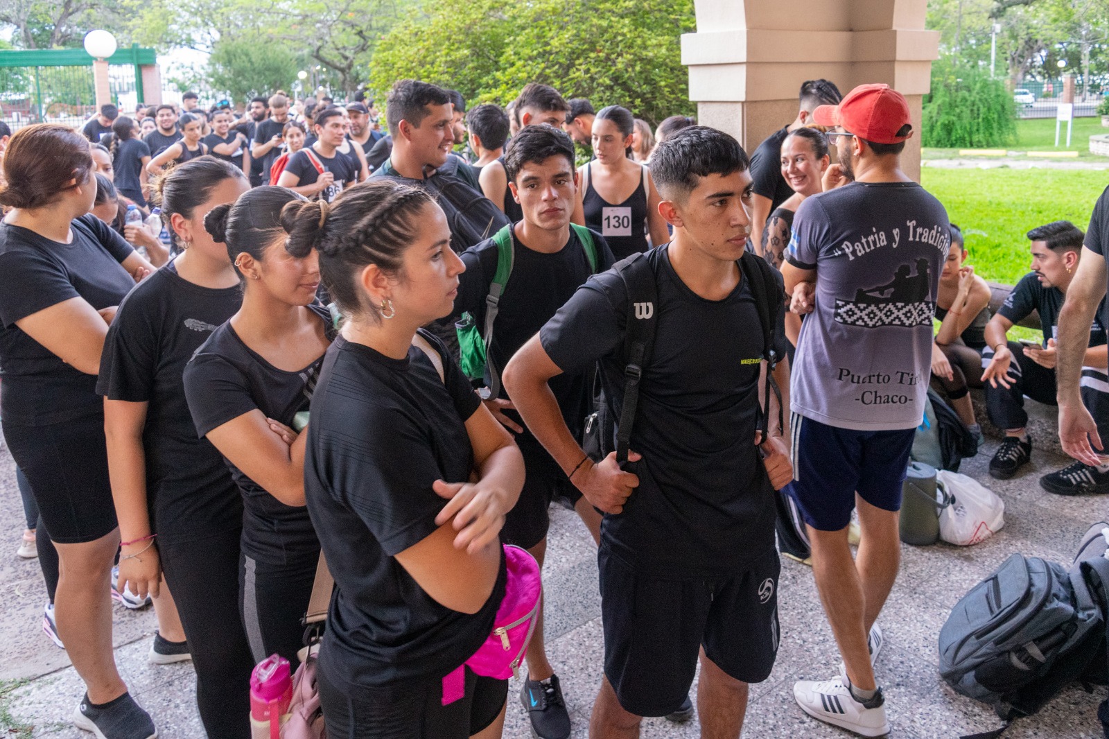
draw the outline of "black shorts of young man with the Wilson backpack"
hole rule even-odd
[[[744,682],[770,677],[777,655],[777,550],[734,575],[637,574],[601,546],[604,676],[635,716],[665,716],[689,695],[698,655]]]

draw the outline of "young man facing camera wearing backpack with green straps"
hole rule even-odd
[[[501,113],[503,115],[503,113]],[[508,128],[508,122],[505,122]],[[529,126],[517,134],[505,153],[509,188],[523,210],[523,220],[510,226],[512,271],[503,286],[488,347],[486,384],[496,395],[485,401],[494,416],[516,434],[523,454],[527,478],[516,507],[508,514],[501,538],[528,549],[543,563],[547,551],[547,509],[557,496],[574,503],[593,537],[600,534],[600,516],[567,479],[558,464],[521,425],[508,393],[498,382],[509,357],[538,332],[554,312],[594,272],[612,266],[612,253],[600,234],[591,233],[593,260],[579,234],[570,227],[578,175],[573,166],[573,142],[550,126]],[[486,298],[497,272],[499,250],[494,239],[471,246],[461,255],[466,271],[459,275],[455,314],[469,311],[479,327],[486,325]],[[591,264],[596,261],[596,267]],[[591,399],[592,374],[560,375],[551,382],[566,424],[578,429]],[[541,617],[528,648],[528,676],[520,700],[542,739],[570,736],[570,717],[558,676],[543,649]]]

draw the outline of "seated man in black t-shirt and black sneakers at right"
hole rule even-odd
[[[1013,477],[1031,458],[1032,444],[1025,429],[1028,414],[1024,396],[1056,404],[1057,350],[1064,341],[1058,331],[1059,315],[1079,266],[1082,237],[1081,230],[1069,221],[1056,221],[1029,231],[1032,271],[1017,283],[997,315],[986,324],[988,347],[983,353],[986,370],[981,375],[986,407],[990,422],[1005,431],[1005,441],[989,463],[989,474],[998,479]],[[1009,341],[1009,328],[1032,311],[1039,313],[1044,343],[1031,345]],[[1085,348],[1080,357],[1079,397],[1091,414],[1099,436],[1109,439],[1109,375],[1106,374],[1109,354],[1101,323],[1103,316],[1102,296],[1091,325],[1078,341],[1078,346]],[[1076,338],[1070,337],[1071,342]],[[1098,464],[1078,462],[1044,475],[1040,486],[1058,495],[1109,493],[1109,466],[1100,460]]]

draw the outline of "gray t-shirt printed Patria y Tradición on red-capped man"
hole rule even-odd
[[[856,431],[919,425],[950,241],[944,206],[915,182],[855,182],[801,204],[786,257],[816,270],[816,306],[797,340],[794,413]]]

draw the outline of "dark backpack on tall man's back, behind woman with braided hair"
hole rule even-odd
[[[475,190],[474,185],[462,179],[458,172],[461,165],[459,158],[448,156],[446,164],[424,180],[413,180],[396,174],[391,166],[381,166],[373,176],[389,178],[430,192],[447,215],[447,224],[450,225],[450,247],[461,253],[509,225],[508,216],[501,213],[480,190]]]

